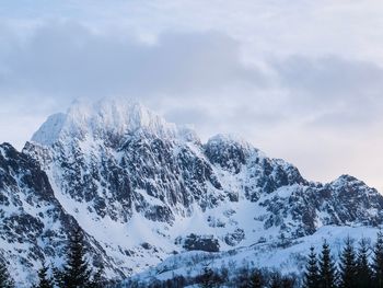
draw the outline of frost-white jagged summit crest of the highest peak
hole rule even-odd
[[[94,103],[76,101],[67,113],[48,117],[33,135],[32,141],[51,146],[60,139],[108,139],[119,141],[126,134],[137,130],[160,138],[185,137],[195,140],[196,135],[185,127],[167,123],[140,103],[125,99],[104,99]]]

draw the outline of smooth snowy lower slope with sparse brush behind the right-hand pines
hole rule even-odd
[[[270,272],[277,270],[283,275],[294,274],[298,276],[297,285],[299,285],[301,276],[305,272],[306,255],[311,246],[314,247],[316,253],[320,253],[324,241],[326,241],[333,258],[337,262],[346,239],[351,237],[355,245],[363,239],[368,247],[372,250],[372,245],[376,240],[376,232],[379,232],[379,229],[364,226],[324,226],[318,228],[315,233],[298,238],[289,243],[266,241],[217,253],[183,252],[167,257],[154,267],[135,274],[121,281],[118,287],[136,287],[137,284],[139,284],[139,287],[155,287],[155,284],[159,286],[161,281],[166,284],[166,280],[179,279],[179,277],[193,281],[193,278],[198,277],[206,266],[220,274],[225,270],[230,280],[235,279],[240,273],[244,273],[244,269],[252,272],[253,268],[259,267]],[[372,254],[370,256],[372,257]]]

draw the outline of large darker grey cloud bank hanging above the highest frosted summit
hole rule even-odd
[[[12,94],[144,96],[263,81],[260,73],[241,64],[239,44],[214,32],[167,33],[148,45],[76,23],[49,23],[1,59],[1,90]]]

